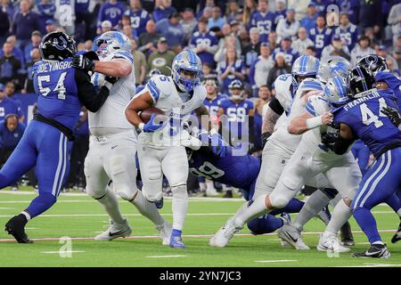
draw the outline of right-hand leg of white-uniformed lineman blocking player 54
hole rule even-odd
[[[106,173],[113,182],[113,191],[132,203],[143,216],[151,220],[164,237],[163,244],[166,245],[170,238],[171,225],[160,216],[156,205],[145,199],[143,192],[136,187],[135,154],[135,138],[126,137],[119,140],[118,146],[111,149],[109,156],[104,159]]]

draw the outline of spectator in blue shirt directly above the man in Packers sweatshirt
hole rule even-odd
[[[166,37],[168,46],[175,53],[179,53],[184,44],[185,34],[184,28],[180,24],[179,12],[173,12],[168,19],[160,20],[156,23],[156,32]]]

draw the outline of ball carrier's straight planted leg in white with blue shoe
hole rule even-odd
[[[185,245],[181,239],[181,232],[183,231],[185,215],[188,210],[186,180],[188,179],[189,171],[184,147],[174,146],[168,149],[161,161],[161,167],[173,192],[173,231],[171,232],[170,246],[173,248],[184,248]]]

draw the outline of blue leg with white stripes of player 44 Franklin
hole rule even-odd
[[[364,253],[354,254],[354,256],[380,258],[390,256],[381,240],[371,209],[389,199],[398,190],[401,183],[399,169],[401,169],[401,148],[383,153],[364,175],[352,203],[352,209],[356,223],[369,239],[371,248]]]

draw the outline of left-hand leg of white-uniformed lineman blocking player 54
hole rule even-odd
[[[119,211],[119,202],[113,191],[107,187],[110,181],[109,175],[103,167],[103,159],[107,157],[107,144],[95,142],[91,138],[89,151],[85,159],[86,193],[97,200],[106,213],[110,216],[110,228],[97,235],[95,240],[114,240],[119,237],[127,237],[132,230],[127,219]]]

